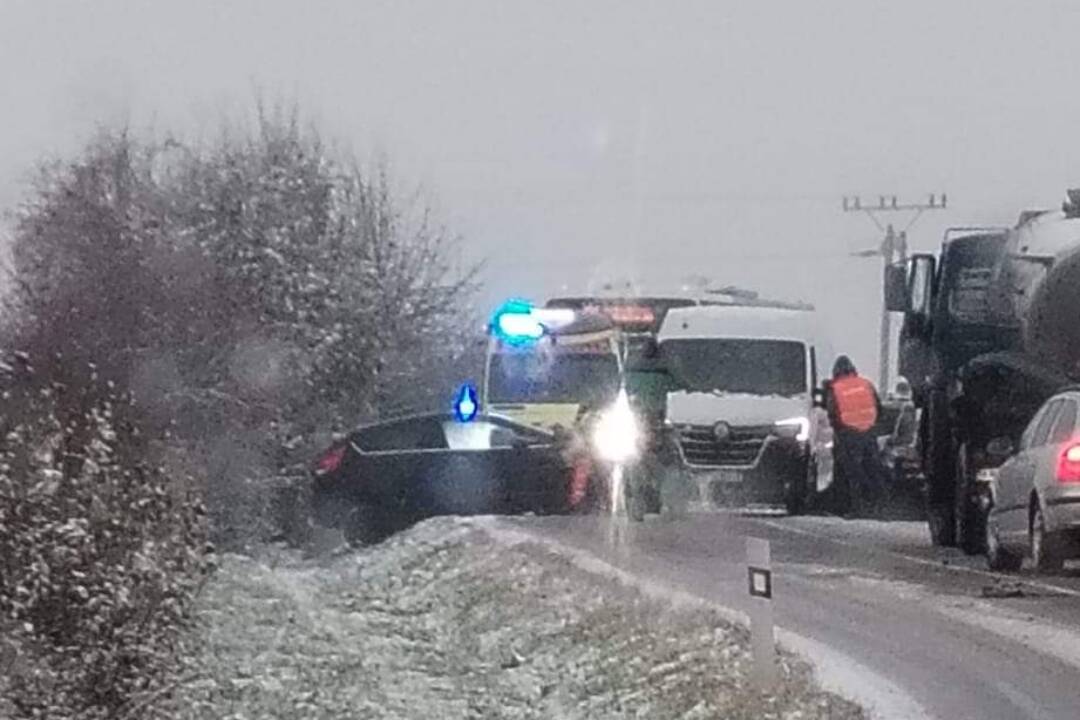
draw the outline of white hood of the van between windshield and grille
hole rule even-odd
[[[805,418],[809,409],[806,396],[685,391],[667,395],[667,420],[676,425],[712,425],[720,420],[732,425],[769,425],[787,418]]]

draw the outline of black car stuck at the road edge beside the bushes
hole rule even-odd
[[[498,416],[430,413],[363,426],[319,460],[320,525],[377,542],[435,515],[563,513],[571,468],[556,436]]]

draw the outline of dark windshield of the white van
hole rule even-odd
[[[807,392],[806,345],[792,340],[694,338],[661,347],[675,382],[691,392],[794,397]]]

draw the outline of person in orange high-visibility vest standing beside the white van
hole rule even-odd
[[[881,416],[881,399],[847,355],[836,358],[825,399],[833,425],[838,501],[843,514],[868,515],[888,483],[874,427]]]

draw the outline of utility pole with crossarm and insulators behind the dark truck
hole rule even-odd
[[[896,262],[907,262],[907,231],[915,225],[916,220],[927,210],[945,209],[947,203],[948,198],[944,192],[940,195],[930,193],[926,203],[897,203],[896,195],[878,195],[877,205],[864,203],[859,195],[843,196],[845,213],[865,213],[877,229],[885,232],[879,247],[852,253],[852,256],[862,258],[880,256],[883,262],[881,272],[881,334],[878,339],[878,390],[882,394],[889,392],[892,359],[892,316],[886,304],[885,275],[890,266]],[[891,222],[882,227],[877,217],[881,213],[901,212],[914,213],[915,215],[900,232],[896,232]]]

